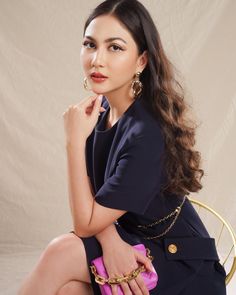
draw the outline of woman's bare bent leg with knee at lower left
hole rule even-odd
[[[63,292],[62,287],[64,290],[72,289],[72,283],[68,284],[71,281],[80,282],[77,288],[82,293],[79,294],[91,294],[87,288],[91,281],[84,244],[79,237],[68,233],[48,244],[35,268],[23,282],[18,295],[56,295],[59,291]]]

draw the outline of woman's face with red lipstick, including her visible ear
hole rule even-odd
[[[109,94],[123,89],[129,93],[135,73],[145,67],[129,31],[111,15],[102,15],[87,27],[81,49],[81,63],[92,91]],[[99,78],[99,74],[107,78]]]

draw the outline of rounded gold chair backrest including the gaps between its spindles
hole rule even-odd
[[[214,217],[213,224],[217,224],[217,226],[214,227],[214,234],[211,234],[211,231],[209,230],[208,226],[207,230],[209,230],[210,235],[215,238],[216,241],[216,248],[218,251],[218,254],[220,256],[220,262],[225,267],[227,276],[226,276],[226,285],[230,282],[232,279],[235,270],[236,270],[236,236],[235,233],[230,226],[230,224],[215,210],[207,206],[206,204],[195,200],[193,198],[189,198],[190,202],[194,205],[196,211],[200,215],[201,219],[203,220],[203,223],[205,219],[211,215]],[[211,222],[212,224],[212,222]],[[218,226],[219,225],[219,226]],[[225,246],[227,242],[227,247],[223,247],[220,249],[220,245]],[[227,250],[226,250],[227,248]]]

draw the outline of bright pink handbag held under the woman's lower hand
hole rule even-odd
[[[139,252],[141,252],[143,255],[146,256],[145,245],[137,244],[137,245],[134,245],[133,247],[136,250],[138,250]],[[108,278],[108,274],[106,272],[106,268],[104,266],[102,256],[93,259],[91,261],[91,264],[92,265],[90,266],[90,268],[91,268],[92,273],[94,275],[95,275],[95,273],[94,273],[94,270],[95,270],[98,276],[101,276],[101,277],[106,278],[106,279]],[[156,270],[155,270],[154,267],[153,267],[152,272],[144,271],[144,272],[141,272],[141,275],[142,275],[142,277],[144,279],[144,282],[145,282],[148,290],[152,290],[152,289],[154,289],[156,287],[157,281],[158,281],[158,275],[157,275]],[[95,276],[95,281],[99,284],[99,288],[100,288],[100,291],[101,291],[102,295],[112,295],[111,286],[108,283],[104,283],[101,280],[98,280],[96,278],[96,276]],[[118,289],[118,295],[124,295],[124,293],[122,291],[122,288],[119,285],[118,285],[117,289]]]

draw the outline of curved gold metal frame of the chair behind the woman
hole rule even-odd
[[[210,211],[213,215],[215,215],[218,219],[220,219],[220,221],[222,222],[222,224],[227,228],[231,238],[232,238],[232,241],[233,241],[233,246],[229,252],[229,254],[227,255],[226,259],[225,259],[225,262],[227,261],[227,259],[229,258],[229,255],[230,253],[234,252],[234,259],[233,259],[233,263],[232,263],[232,266],[231,266],[231,269],[229,271],[229,273],[226,275],[226,279],[225,279],[225,283],[226,285],[228,285],[228,283],[231,281],[234,273],[235,273],[235,270],[236,270],[236,235],[231,227],[231,225],[222,217],[220,216],[219,213],[217,213],[215,210],[213,210],[212,208],[210,208],[209,206],[207,206],[206,204],[198,201],[198,200],[195,200],[194,198],[189,198],[189,201],[192,203],[192,204],[195,204],[195,205],[198,205],[199,208],[205,208],[206,210]],[[222,233],[222,232],[221,232]],[[220,233],[220,235],[221,235]],[[224,262],[224,263],[225,263]]]

